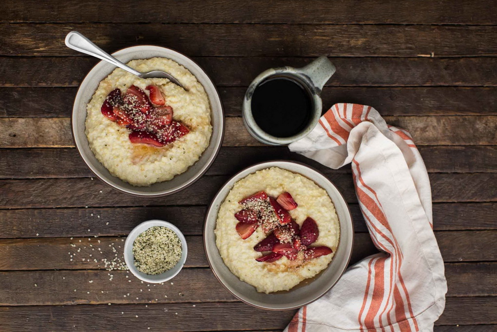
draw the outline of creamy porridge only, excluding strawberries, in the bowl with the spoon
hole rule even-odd
[[[85,133],[95,157],[112,175],[136,186],[148,186],[172,179],[200,158],[209,145],[212,133],[211,111],[202,85],[188,69],[175,61],[156,57],[132,60],[127,64],[141,72],[166,71],[184,89],[166,78],[142,79],[117,68],[100,82],[87,105]],[[172,124],[168,124],[168,128],[174,130],[176,126],[181,126],[187,128],[187,134],[176,135],[173,140],[162,141],[159,146],[154,146],[153,141],[153,144],[136,144],[137,140],[138,143],[149,143],[142,137],[147,138],[149,134],[138,132],[138,138],[135,135],[135,143],[132,143],[130,125],[119,125],[119,122],[105,117],[101,111],[102,104],[111,91],[120,89],[122,93],[126,93],[132,86],[142,94],[150,90],[145,96],[152,101],[152,92],[164,96],[165,104],[158,109],[166,110],[169,115],[172,112]],[[150,87],[159,91],[151,90]]]

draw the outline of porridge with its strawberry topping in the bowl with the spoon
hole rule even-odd
[[[172,179],[208,147],[211,110],[203,86],[185,67],[161,57],[127,63],[166,78],[139,78],[120,68],[100,82],[87,105],[86,136],[109,172],[135,186]]]

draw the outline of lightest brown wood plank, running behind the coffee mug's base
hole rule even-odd
[[[384,118],[391,125],[408,129],[418,146],[497,145],[497,116],[495,115],[385,116]],[[223,146],[263,145],[250,136],[241,117],[227,117],[225,120]],[[67,117],[0,118],[0,148],[68,148],[73,146],[70,119]]]

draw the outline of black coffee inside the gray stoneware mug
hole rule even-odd
[[[260,129],[275,137],[290,137],[309,124],[313,102],[299,82],[273,77],[255,88],[250,108]]]

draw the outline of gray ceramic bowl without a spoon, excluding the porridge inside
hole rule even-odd
[[[340,223],[340,240],[330,265],[316,277],[302,281],[289,291],[265,294],[257,292],[255,287],[240,281],[237,276],[231,273],[219,254],[219,250],[216,246],[216,234],[214,233],[214,229],[216,228],[219,207],[225,200],[229,191],[233,188],[233,185],[248,174],[272,166],[299,173],[313,180],[321,188],[326,190],[335,206],[336,214],[338,215]],[[288,310],[299,308],[317,300],[323,296],[336,281],[338,281],[347,268],[350,255],[352,254],[353,235],[354,229],[348,205],[338,189],[325,177],[325,175],[304,164],[288,161],[271,161],[256,164],[242,170],[228,180],[228,182],[219,190],[207,211],[204,225],[204,247],[207,260],[214,275],[233,295],[258,308]]]

